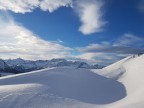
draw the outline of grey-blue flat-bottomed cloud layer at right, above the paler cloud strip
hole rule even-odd
[[[143,45],[144,38],[133,34],[124,34],[114,42],[90,44],[84,48],[79,48],[79,50],[87,53],[137,54],[144,53],[144,49],[141,48]]]

